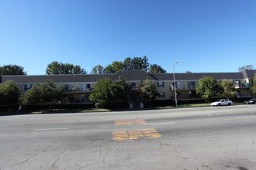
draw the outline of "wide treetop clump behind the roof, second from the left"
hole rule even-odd
[[[46,73],[48,75],[59,75],[59,74],[86,74],[85,69],[82,69],[81,66],[73,65],[71,63],[61,63],[53,61],[48,64]]]

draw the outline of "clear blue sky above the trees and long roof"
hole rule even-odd
[[[45,74],[52,61],[91,72],[147,56],[168,73],[256,67],[255,0],[0,0],[0,66]]]

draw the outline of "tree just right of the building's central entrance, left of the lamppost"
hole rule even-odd
[[[155,100],[159,96],[159,92],[154,83],[150,82],[150,80],[145,80],[140,84],[140,90],[142,93],[142,98],[145,104],[150,104],[151,100]]]

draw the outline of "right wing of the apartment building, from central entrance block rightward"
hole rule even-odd
[[[251,85],[256,70],[243,70],[237,73],[175,73],[175,85],[178,100],[199,99],[195,91],[196,84],[203,76],[212,76],[215,80],[233,80],[237,97],[252,97]],[[157,80],[161,96],[158,100],[174,100],[174,79],[172,73],[150,74]]]

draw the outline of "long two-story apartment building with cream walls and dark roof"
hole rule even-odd
[[[243,70],[236,73],[175,73],[175,85],[178,100],[198,100],[195,92],[196,84],[203,76],[212,76],[215,80],[233,80],[237,97],[252,97],[251,85],[256,70]],[[157,86],[160,96],[157,100],[175,100],[173,73],[147,73],[140,70],[119,71],[114,74],[82,74],[82,75],[41,75],[41,76],[0,76],[0,83],[13,80],[23,93],[36,83],[54,80],[57,87],[64,87],[64,93],[74,97],[72,103],[92,103],[88,96],[93,93],[93,86],[99,79],[109,77],[115,81],[119,76],[131,85],[130,101],[140,100],[140,83],[150,80]]]

